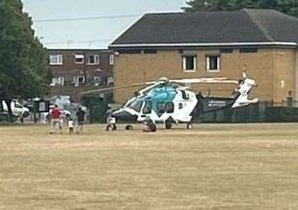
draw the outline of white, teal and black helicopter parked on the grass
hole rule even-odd
[[[194,83],[233,83],[238,84],[238,88],[229,98],[205,97],[190,90],[190,85]],[[154,125],[163,123],[166,129],[170,129],[172,125],[183,123],[187,125],[187,129],[191,129],[195,112],[235,109],[258,102],[258,99],[248,99],[250,90],[257,86],[257,83],[254,79],[247,78],[246,73],[243,73],[243,80],[239,81],[228,78],[160,78],[147,83],[91,90],[83,94],[144,85],[147,87],[135,92],[135,96],[129,99],[121,109],[114,111],[113,116],[117,122],[143,123],[150,120]],[[132,129],[132,125],[126,125],[126,130]]]

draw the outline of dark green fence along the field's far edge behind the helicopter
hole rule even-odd
[[[86,99],[90,109],[90,123],[105,123],[105,111],[112,98]],[[8,121],[7,114],[0,113],[0,123]],[[238,109],[222,109],[208,113],[194,113],[194,123],[282,123],[298,122],[298,101],[259,102]]]

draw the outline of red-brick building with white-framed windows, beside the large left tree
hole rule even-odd
[[[114,83],[111,50],[49,50],[49,54],[52,96],[70,95],[79,102],[80,92]]]

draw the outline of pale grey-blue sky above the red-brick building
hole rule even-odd
[[[22,0],[47,48],[107,48],[144,13],[180,12],[186,0]],[[114,17],[43,22],[63,18]],[[127,17],[128,16],[128,17]]]

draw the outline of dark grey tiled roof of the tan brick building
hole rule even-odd
[[[276,10],[151,13],[119,36],[117,45],[297,42],[298,19]]]

